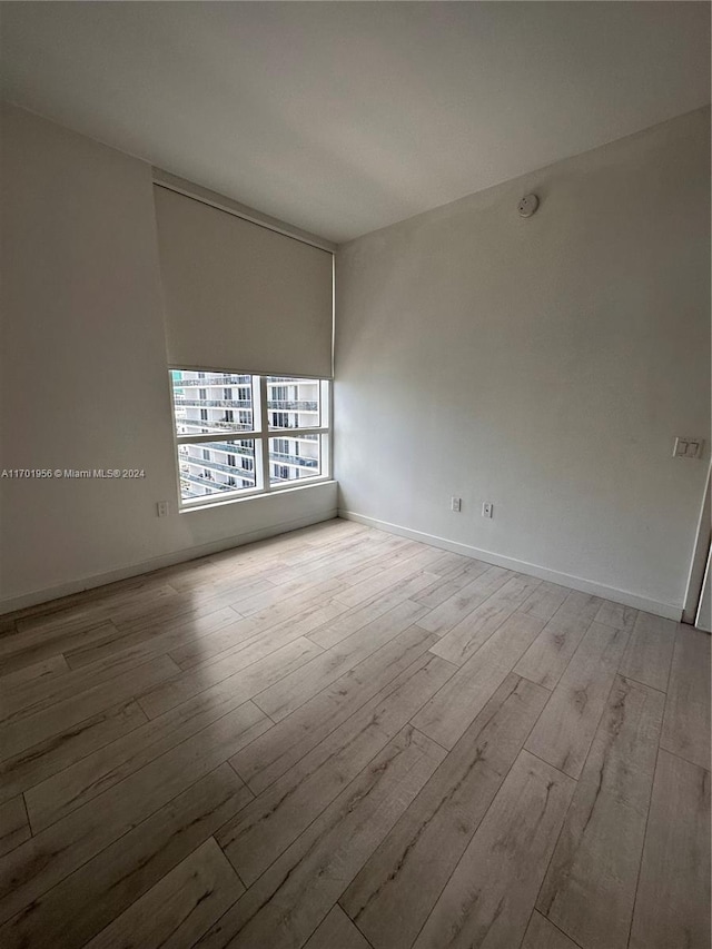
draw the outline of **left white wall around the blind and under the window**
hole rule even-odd
[[[0,468],[146,477],[0,480],[0,611],[333,516],[333,484],[178,514],[150,166],[7,107],[1,170]]]

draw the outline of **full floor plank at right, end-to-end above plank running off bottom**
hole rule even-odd
[[[627,633],[594,623],[534,726],[525,748],[578,778],[599,726]]]

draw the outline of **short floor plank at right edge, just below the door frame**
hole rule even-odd
[[[678,626],[661,748],[710,770],[709,633]]]

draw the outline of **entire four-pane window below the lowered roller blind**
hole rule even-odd
[[[234,370],[171,369],[170,376],[184,507],[329,476],[328,382]],[[198,378],[204,387],[196,389]],[[225,402],[237,402],[238,411]]]

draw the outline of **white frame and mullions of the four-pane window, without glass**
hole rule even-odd
[[[179,435],[176,425],[176,402],[174,392],[174,372],[196,373],[200,376],[200,382],[208,383],[205,378],[206,373],[216,373],[230,376],[249,376],[253,388],[253,428],[236,429],[235,432],[225,431],[224,433],[208,433],[205,435]],[[323,484],[332,481],[332,413],[333,413],[333,386],[332,379],[323,376],[297,376],[290,375],[288,378],[304,379],[304,382],[316,383],[319,394],[319,425],[315,427],[294,427],[294,428],[273,428],[270,426],[270,413],[274,409],[268,408],[268,385],[267,379],[284,374],[259,374],[248,373],[238,369],[205,369],[196,368],[195,366],[169,366],[168,383],[170,391],[171,405],[171,423],[174,435],[174,459],[176,463],[176,477],[178,488],[178,510],[181,513],[195,511],[197,508],[211,506],[214,504],[231,504],[237,501],[247,501],[255,497],[261,497],[268,494],[278,494],[284,491],[295,491],[309,485]],[[286,378],[286,376],[285,376]],[[219,383],[218,385],[221,385]],[[202,415],[202,409],[201,409]],[[239,424],[239,423],[238,423]],[[269,443],[275,438],[298,438],[299,435],[317,435],[319,451],[319,474],[314,477],[293,478],[285,482],[271,483],[270,461],[269,461]],[[217,492],[215,495],[201,495],[199,497],[184,498],[180,486],[180,456],[179,447],[181,445],[200,446],[206,442],[237,442],[251,441],[254,442],[254,471],[249,472],[255,478],[254,487],[239,487],[230,491]],[[239,480],[241,468],[236,466],[235,472]],[[245,472],[248,474],[248,472]]]

